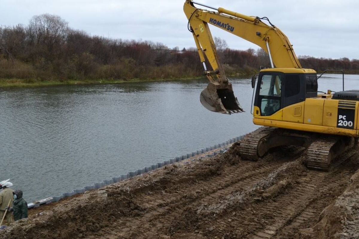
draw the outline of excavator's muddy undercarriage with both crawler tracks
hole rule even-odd
[[[239,152],[242,159],[257,161],[270,148],[284,145],[307,148],[307,167],[328,171],[334,159],[354,146],[354,138],[264,126],[244,136]]]

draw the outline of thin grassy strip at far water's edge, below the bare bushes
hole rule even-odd
[[[117,84],[117,83],[135,83],[135,82],[159,82],[159,81],[185,81],[194,79],[203,79],[204,77],[185,77],[169,79],[131,79],[131,80],[64,80],[64,81],[42,81],[36,79],[4,79],[0,78],[0,87],[22,88],[22,87],[43,87],[58,85],[92,85],[92,84]]]

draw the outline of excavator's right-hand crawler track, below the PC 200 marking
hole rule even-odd
[[[307,167],[328,171],[330,163],[353,146],[354,138],[351,137],[321,136],[307,149]]]

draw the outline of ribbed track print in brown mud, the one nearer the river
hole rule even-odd
[[[292,150],[292,149],[287,149]],[[298,155],[300,150],[286,152],[291,157]],[[298,156],[295,156],[298,157]],[[196,208],[213,201],[220,201],[221,198],[241,191],[248,186],[254,185],[274,169],[280,167],[287,159],[273,159],[269,156],[262,161],[239,161],[236,165],[224,168],[220,174],[211,176],[202,181],[194,183],[183,183],[166,188],[165,191],[152,194],[146,197],[139,197],[134,203],[144,209],[145,213],[140,217],[126,219],[115,224],[116,231],[130,231],[130,235],[123,238],[147,238],[158,233],[159,228],[154,225],[162,225],[163,222],[174,222],[180,219],[183,211],[189,207]],[[294,160],[292,158],[292,160]],[[166,192],[167,191],[167,192]],[[173,228],[161,226],[164,234],[171,234]],[[135,233],[133,233],[135,232]],[[149,234],[152,233],[152,234]],[[106,238],[113,238],[112,236]],[[116,238],[116,237],[115,237]]]

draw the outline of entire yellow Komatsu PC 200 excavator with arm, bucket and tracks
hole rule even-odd
[[[302,68],[286,35],[267,17],[246,16],[191,0],[186,0],[183,9],[209,79],[200,95],[208,110],[223,114],[244,111],[225,77],[209,25],[248,40],[269,55],[271,68],[260,70],[257,84],[256,77],[252,78],[253,91],[257,85],[253,123],[264,127],[242,139],[243,159],[258,160],[270,148],[298,145],[307,150],[308,168],[327,171],[332,160],[354,146],[359,137],[359,91],[344,91],[344,76],[343,91],[318,94],[316,71]]]

